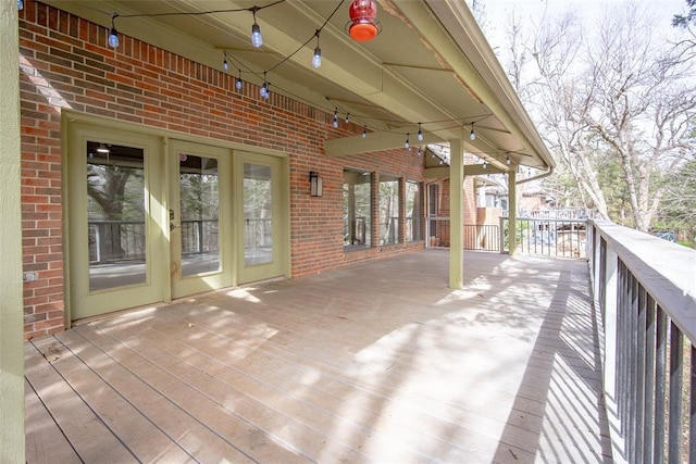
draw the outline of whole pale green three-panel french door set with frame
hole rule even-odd
[[[289,276],[287,161],[71,124],[71,318]]]

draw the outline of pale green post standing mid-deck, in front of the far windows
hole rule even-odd
[[[464,229],[464,153],[462,139],[449,141],[449,288],[452,289],[462,287],[464,271],[462,237]]]

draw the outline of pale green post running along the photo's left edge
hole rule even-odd
[[[24,326],[17,2],[0,2],[0,462],[23,463]]]

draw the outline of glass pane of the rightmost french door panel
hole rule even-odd
[[[247,266],[273,261],[271,166],[244,163],[244,260]]]

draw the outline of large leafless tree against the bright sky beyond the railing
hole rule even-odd
[[[655,37],[655,22],[633,3],[607,11],[595,27],[572,13],[545,17],[523,40],[519,24],[508,24],[512,84],[582,203],[619,221],[605,189],[621,184],[625,222],[648,230],[669,191],[664,177],[694,158],[688,62]],[[534,70],[523,78],[527,63]],[[620,166],[620,176],[600,176],[608,165]]]

